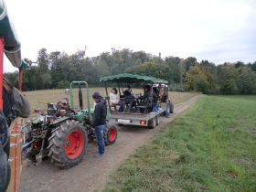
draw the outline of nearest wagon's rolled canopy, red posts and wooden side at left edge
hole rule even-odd
[[[22,91],[22,71],[27,68],[27,63],[22,61],[20,43],[16,36],[15,28],[7,14],[4,0],[0,0],[0,110],[3,111],[3,77],[4,77],[4,53],[11,64],[18,69],[18,89]],[[11,181],[8,192],[19,191],[20,176],[22,171],[22,132],[23,119],[16,119],[9,127],[10,133],[10,157]]]

